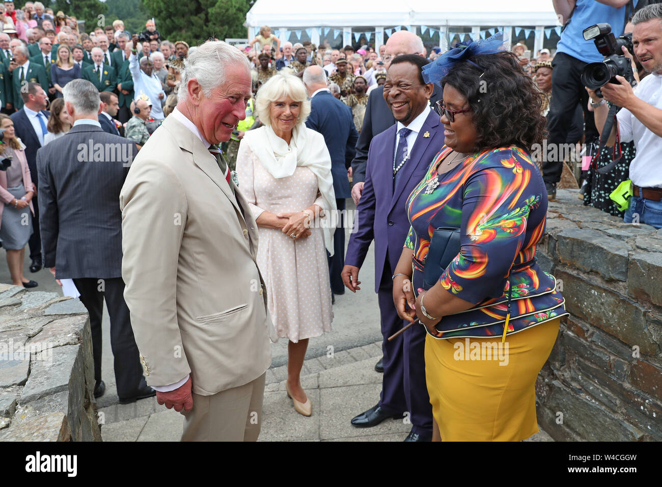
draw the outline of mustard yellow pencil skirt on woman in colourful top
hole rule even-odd
[[[500,336],[426,336],[426,381],[442,441],[520,441],[538,433],[536,377],[559,323],[508,335],[504,344]]]

